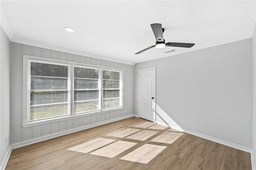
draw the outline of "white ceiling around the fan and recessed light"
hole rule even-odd
[[[128,64],[251,38],[256,21],[255,1],[1,1],[1,8],[13,42]],[[155,44],[151,23],[162,23],[166,42],[194,47],[135,55]]]

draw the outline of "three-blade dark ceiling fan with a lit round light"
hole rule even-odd
[[[162,28],[162,24],[160,23],[152,23],[150,24],[152,31],[156,37],[156,45],[152,45],[142,51],[139,51],[138,53],[135,54],[140,54],[144,51],[147,51],[153,47],[156,47],[157,49],[161,49],[164,48],[165,46],[168,47],[185,47],[185,48],[190,48],[193,47],[195,44],[193,43],[165,43],[165,39],[163,37],[163,33],[164,33],[164,28]]]

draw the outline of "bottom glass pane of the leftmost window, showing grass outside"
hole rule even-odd
[[[30,106],[30,121],[68,115],[68,104]]]

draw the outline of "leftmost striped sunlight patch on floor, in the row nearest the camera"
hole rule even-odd
[[[88,141],[86,143],[82,143],[80,145],[74,146],[72,148],[69,148],[67,150],[72,150],[76,152],[82,152],[82,153],[88,153],[92,150],[98,149],[100,147],[103,147],[104,145],[107,145],[109,143],[112,143],[116,140],[114,139],[105,139],[105,138],[96,138],[91,141]]]

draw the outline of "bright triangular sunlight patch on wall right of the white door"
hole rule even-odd
[[[161,107],[159,107],[154,101],[153,111],[154,111],[154,121],[160,125],[171,127],[179,131],[184,131],[171,117],[168,115]],[[155,109],[156,106],[156,109]]]

